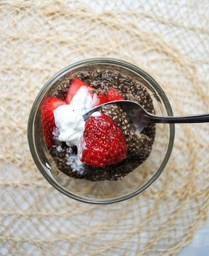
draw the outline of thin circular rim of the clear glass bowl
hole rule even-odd
[[[34,131],[34,121],[35,121],[35,116],[37,112],[37,107],[39,106],[43,96],[45,93],[48,91],[50,88],[52,82],[53,84],[55,83],[56,80],[60,79],[62,75],[65,75],[65,73],[69,72],[70,70],[74,70],[75,68],[82,67],[85,65],[90,65],[90,64],[96,64],[96,63],[102,63],[102,64],[114,64],[114,65],[119,65],[123,68],[128,68],[131,71],[134,71],[138,75],[142,75],[153,87],[154,89],[158,92],[161,100],[163,101],[163,104],[166,108],[167,114],[169,116],[173,116],[173,111],[171,108],[171,105],[169,103],[169,100],[167,96],[164,93],[164,90],[159,86],[159,84],[149,75],[147,74],[144,70],[140,69],[138,66],[133,65],[127,61],[124,60],[119,60],[119,59],[113,59],[113,58],[91,58],[91,59],[85,59],[81,60],[78,62],[75,62],[71,65],[66,66],[64,69],[60,70],[58,73],[56,73],[50,80],[48,80],[45,85],[42,87],[40,90],[39,94],[35,98],[34,104],[32,105],[32,108],[30,110],[30,115],[29,115],[29,120],[28,120],[28,128],[27,128],[27,137],[28,137],[28,143],[29,143],[29,148],[31,155],[33,157],[33,160],[38,167],[39,171],[41,174],[45,177],[45,179],[53,186],[55,187],[58,191],[63,193],[65,196],[68,196],[72,199],[75,199],[80,202],[85,202],[85,203],[90,203],[90,204],[111,204],[111,203],[116,203],[120,201],[127,200],[131,197],[134,197],[138,195],[139,193],[143,192],[145,189],[147,189],[154,181],[157,180],[157,178],[160,176],[162,171],[164,170],[164,167],[166,166],[167,162],[169,161],[169,157],[171,155],[173,145],[174,145],[174,135],[175,135],[175,126],[174,124],[169,124],[169,144],[167,147],[166,154],[164,156],[164,159],[159,166],[158,170],[154,173],[154,175],[141,187],[138,189],[124,195],[124,196],[119,196],[115,197],[112,199],[90,199],[90,198],[85,198],[81,196],[77,196],[73,193],[70,193],[69,191],[65,190],[63,187],[60,185],[56,184],[51,177],[46,173],[44,168],[42,167],[38,157],[37,157],[37,152],[35,149],[35,143],[34,143],[34,138],[33,138],[33,131]]]

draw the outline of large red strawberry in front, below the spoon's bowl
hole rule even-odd
[[[91,166],[116,164],[127,156],[123,132],[109,115],[90,116],[85,123],[78,154],[82,162]]]

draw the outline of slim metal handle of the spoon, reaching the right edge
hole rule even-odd
[[[183,124],[183,123],[206,123],[209,122],[209,113],[186,116],[159,116],[149,114],[150,123]]]

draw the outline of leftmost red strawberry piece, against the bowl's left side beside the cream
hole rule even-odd
[[[63,104],[66,104],[65,100],[50,97],[45,99],[41,107],[42,129],[44,133],[45,143],[49,147],[55,145],[54,136],[52,134],[55,129],[55,118],[53,110]]]

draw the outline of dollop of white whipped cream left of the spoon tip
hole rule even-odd
[[[65,141],[68,146],[78,146],[85,130],[83,115],[98,103],[97,95],[93,98],[89,89],[81,86],[73,96],[70,105],[60,105],[54,110],[55,125],[59,129],[59,141]]]

